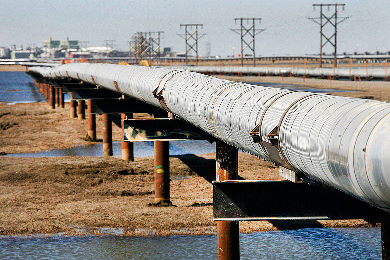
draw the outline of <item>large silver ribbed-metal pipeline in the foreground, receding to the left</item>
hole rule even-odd
[[[163,108],[232,146],[390,212],[389,102],[182,69],[71,63],[29,71],[79,79]]]

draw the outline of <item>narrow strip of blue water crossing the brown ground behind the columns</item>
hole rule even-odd
[[[121,141],[112,142],[113,156],[121,156]],[[183,155],[187,153],[201,154],[215,152],[215,143],[206,140],[170,141],[169,154]],[[134,156],[153,156],[154,142],[134,142]],[[11,153],[4,156],[15,157],[58,157],[58,156],[103,156],[103,144],[90,144],[68,149],[54,149],[40,153]]]

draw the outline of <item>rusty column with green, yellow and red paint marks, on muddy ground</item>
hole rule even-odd
[[[154,141],[154,204],[172,205],[169,194],[169,141]]]

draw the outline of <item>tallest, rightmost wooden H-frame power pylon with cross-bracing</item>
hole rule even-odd
[[[315,23],[319,24],[319,26],[320,26],[320,30],[319,30],[319,34],[320,34],[319,64],[320,64],[320,67],[322,67],[322,47],[325,46],[327,43],[330,43],[331,45],[333,45],[333,47],[335,47],[334,66],[336,66],[337,65],[337,63],[336,63],[336,61],[337,61],[337,58],[336,58],[336,55],[337,55],[337,25],[339,23],[341,23],[342,21],[347,20],[351,16],[337,17],[337,7],[342,6],[342,10],[344,11],[345,4],[314,4],[313,5],[314,11],[316,11],[316,6],[319,6],[319,8],[320,8],[320,10],[319,10],[320,17],[306,17],[306,18],[314,21]],[[330,7],[335,8],[335,12],[332,14],[332,16],[327,17],[324,14],[324,12],[323,12],[324,6],[328,7],[328,11],[330,10]],[[325,23],[323,23],[323,19],[325,20]],[[341,20],[338,21],[337,19],[341,19]],[[319,20],[319,21],[317,21],[317,20]],[[335,32],[330,37],[326,37],[325,34],[323,33],[323,28],[328,23],[335,28]],[[323,37],[326,39],[326,42],[324,44],[322,43]],[[333,38],[333,41],[332,41],[332,38]]]

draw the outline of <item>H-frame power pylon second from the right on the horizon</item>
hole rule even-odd
[[[239,29],[232,29],[233,32],[239,34],[241,36],[241,66],[244,66],[244,50],[248,47],[253,52],[253,66],[256,66],[256,57],[255,57],[255,36],[261,32],[264,32],[266,29],[256,29],[255,28],[255,21],[259,21],[259,24],[261,22],[261,18],[234,18],[234,23],[237,21],[240,21],[241,28]],[[252,21],[252,26],[249,28],[246,28],[243,25],[243,21],[246,21],[246,24],[249,24],[249,21]],[[244,32],[245,31],[245,32]],[[249,43],[247,43],[244,39],[244,37],[248,34],[251,38]],[[245,46],[244,46],[245,43]],[[252,43],[252,46],[250,46]]]

